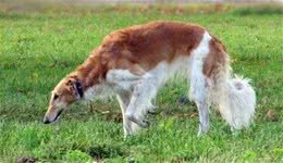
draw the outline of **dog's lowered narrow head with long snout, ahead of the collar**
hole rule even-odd
[[[63,78],[52,90],[44,123],[49,124],[57,121],[71,103],[82,99],[83,96],[83,85],[77,78]]]

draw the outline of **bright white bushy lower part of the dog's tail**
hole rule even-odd
[[[236,76],[226,82],[224,98],[219,101],[222,117],[234,129],[248,127],[256,108],[256,93],[249,79]]]

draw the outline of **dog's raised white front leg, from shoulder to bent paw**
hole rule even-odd
[[[133,92],[125,112],[125,118],[131,120],[139,127],[147,127],[148,123],[144,121],[144,117],[155,109],[151,101],[157,95],[158,79],[150,74],[139,76],[128,70],[113,70],[108,73],[107,82],[116,87],[119,91]],[[132,128],[132,133],[136,130]]]

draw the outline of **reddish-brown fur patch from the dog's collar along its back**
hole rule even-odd
[[[100,47],[75,73],[84,89],[104,79],[109,70],[130,70],[142,75],[161,61],[189,55],[205,29],[175,22],[152,22],[119,29],[106,36]]]

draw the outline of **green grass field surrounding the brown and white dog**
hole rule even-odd
[[[100,9],[74,14],[73,10],[0,12],[0,162],[15,162],[21,156],[35,156],[39,162],[283,161],[281,12]],[[79,65],[103,36],[153,20],[201,24],[225,42],[234,72],[250,77],[257,91],[257,114],[250,128],[232,135],[212,111],[210,133],[197,138],[196,106],[179,102],[187,93],[184,79],[159,92],[158,114],[149,117],[151,126],[125,140],[114,100],[75,104],[59,123],[41,123],[53,86]],[[274,111],[276,121],[267,117],[269,110]]]

